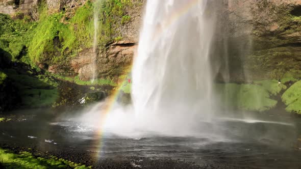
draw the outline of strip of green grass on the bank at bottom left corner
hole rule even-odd
[[[91,168],[53,156],[46,159],[34,157],[29,152],[19,152],[15,154],[4,149],[0,149],[0,161],[5,168]]]

